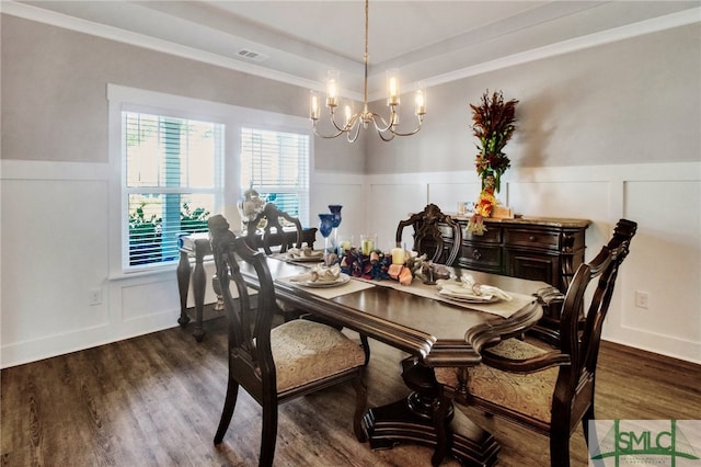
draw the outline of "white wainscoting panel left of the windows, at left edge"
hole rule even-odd
[[[103,181],[2,182],[3,346],[107,321],[106,195]]]

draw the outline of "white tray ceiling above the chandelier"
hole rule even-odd
[[[346,95],[363,93],[360,0],[2,3],[10,14],[49,18],[44,21],[309,88],[322,89],[333,68]],[[701,0],[371,0],[370,94],[380,96],[390,68],[400,71],[404,90],[418,81],[432,86],[519,57],[698,22],[700,7]]]

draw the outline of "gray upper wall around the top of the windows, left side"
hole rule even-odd
[[[3,14],[3,159],[107,162],[108,82],[306,116],[309,91]],[[41,137],[39,137],[41,136]],[[315,168],[363,172],[364,148],[315,141]]]

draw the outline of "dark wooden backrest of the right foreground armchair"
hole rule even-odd
[[[582,413],[571,413],[571,408],[584,412],[588,407],[584,401],[591,400],[601,328],[619,267],[629,253],[636,229],[637,224],[621,219],[608,244],[590,262],[579,265],[567,288],[560,322],[560,351],[570,355],[570,364],[560,368],[553,396],[553,421],[564,417],[563,420],[576,422]],[[587,303],[588,297],[590,301]],[[579,323],[582,309],[585,311],[584,329]],[[577,397],[583,398],[582,405],[573,402]]]

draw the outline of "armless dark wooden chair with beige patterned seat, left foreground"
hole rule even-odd
[[[311,320],[296,319],[273,327],[277,305],[265,254],[252,250],[244,237],[237,238],[220,215],[209,219],[209,230],[229,335],[227,396],[215,444],[222,442],[233,415],[239,387],[243,387],[262,406],[258,464],[271,466],[275,455],[278,406],[343,381],[352,381],[355,387],[353,429],[358,441],[365,441],[363,417],[367,408],[367,389],[363,381],[365,354],[360,346],[337,329]],[[239,261],[253,267],[258,277],[260,289],[254,297],[244,283]]]

